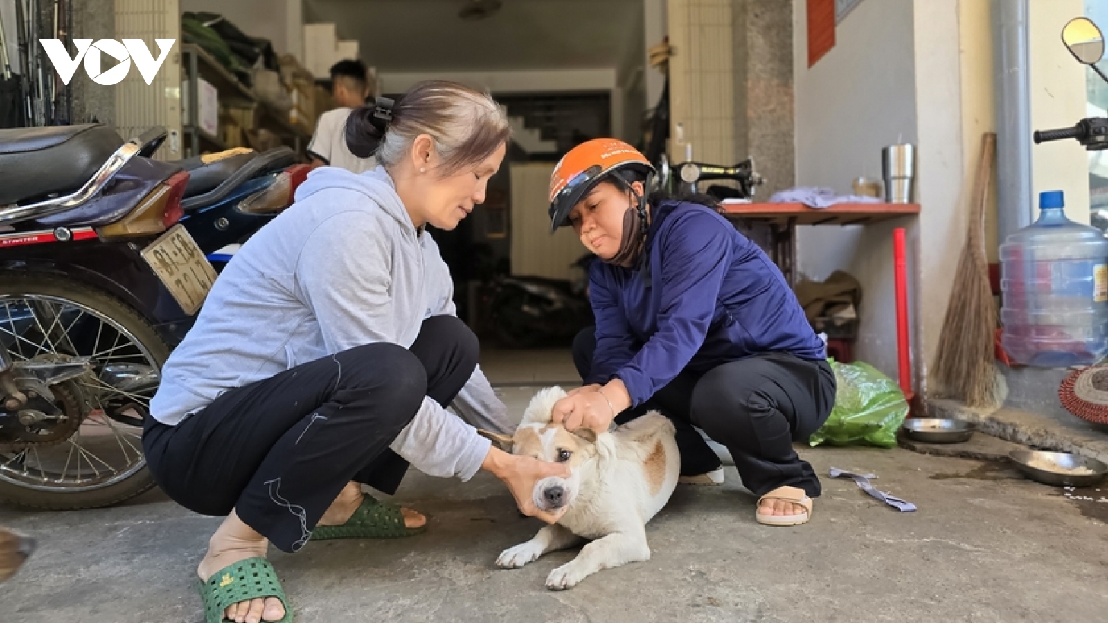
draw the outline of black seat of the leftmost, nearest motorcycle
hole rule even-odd
[[[76,191],[122,144],[101,123],[0,130],[0,205]]]

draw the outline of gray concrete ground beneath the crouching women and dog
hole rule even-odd
[[[534,388],[502,389],[513,412]],[[271,560],[297,621],[1101,621],[1108,612],[1108,502],[972,460],[906,450],[806,449],[878,473],[915,502],[899,513],[853,482],[824,479],[812,522],[753,521],[732,468],[719,488],[680,487],[647,528],[649,562],[603,571],[567,592],[543,588],[573,552],[499,570],[501,550],[540,527],[493,478],[412,473],[397,499],[430,515],[427,533],[329,541]],[[1108,497],[1079,492],[1081,497]],[[0,509],[40,551],[0,586],[0,622],[202,621],[194,570],[217,519],[158,491],[81,512]]]

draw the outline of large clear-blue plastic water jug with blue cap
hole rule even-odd
[[[1001,245],[1004,349],[1019,364],[1091,365],[1108,353],[1108,239],[1039,194],[1038,221]]]

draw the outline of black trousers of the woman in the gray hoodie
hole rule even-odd
[[[176,426],[147,418],[146,461],[181,505],[235,509],[295,552],[347,482],[396,491],[408,463],[389,445],[424,396],[449,405],[476,362],[469,327],[435,316],[410,349],[359,346],[232,389]]]

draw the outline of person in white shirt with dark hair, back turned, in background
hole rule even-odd
[[[339,61],[331,67],[331,95],[339,108],[327,111],[316,123],[316,133],[308,144],[311,167],[337,166],[352,173],[377,167],[373,157],[358,157],[346,143],[346,122],[353,109],[365,105],[369,96],[366,65],[361,61]]]

